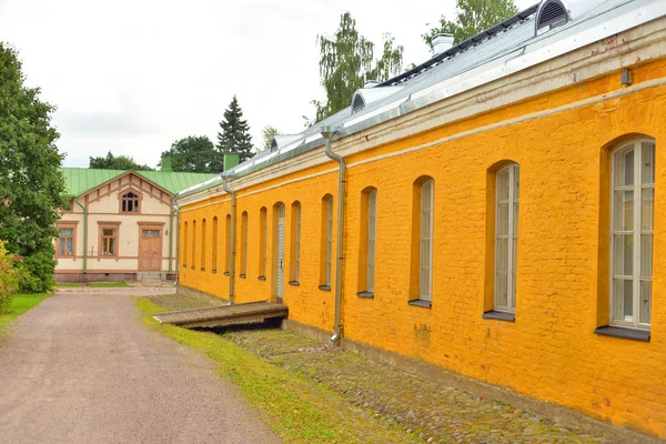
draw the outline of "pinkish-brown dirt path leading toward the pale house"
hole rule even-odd
[[[279,442],[214,364],[127,291],[63,292],[0,339],[0,443]]]

